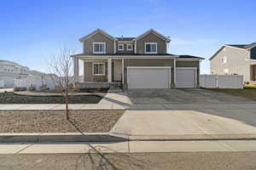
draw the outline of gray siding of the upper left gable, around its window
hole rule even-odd
[[[114,53],[113,39],[98,32],[84,41],[84,54],[93,54],[93,42],[106,42],[106,54]]]

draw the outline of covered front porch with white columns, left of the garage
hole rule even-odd
[[[79,59],[84,63],[84,76],[79,79]],[[77,88],[123,88],[124,59],[74,59]]]

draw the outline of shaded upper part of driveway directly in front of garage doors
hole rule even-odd
[[[201,88],[188,89],[129,89],[128,97],[132,104],[222,104],[251,103],[245,99],[230,94],[217,93]]]

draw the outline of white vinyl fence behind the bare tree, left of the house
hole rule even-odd
[[[29,88],[32,85],[39,89],[42,84],[46,84],[48,88],[54,89],[55,82],[50,77],[36,77],[36,76],[28,76],[22,79],[15,79],[15,88]]]

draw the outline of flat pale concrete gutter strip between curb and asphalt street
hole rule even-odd
[[[0,144],[0,154],[256,151],[256,141],[131,141],[84,144]]]

